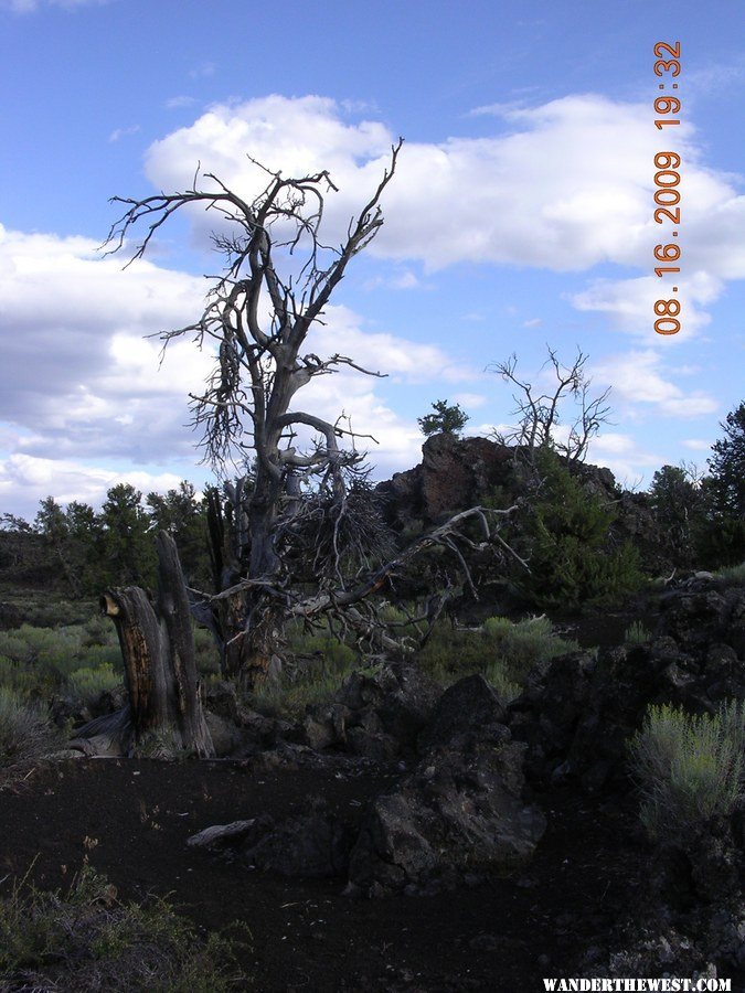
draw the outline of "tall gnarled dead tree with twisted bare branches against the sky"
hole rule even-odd
[[[351,259],[383,224],[381,197],[401,147],[398,141],[392,149],[338,248],[320,239],[324,197],[337,189],[324,171],[286,179],[264,170],[268,184],[253,201],[210,173],[198,173],[184,192],[115,197],[126,211],[109,232],[110,250],[145,227],[130,261],[145,255],[178,211],[202,207],[220,224],[213,243],[223,275],[202,314],[160,337],[164,348],[181,335],[213,348],[214,372],[205,391],[191,397],[193,421],[219,472],[225,476],[231,462],[251,467],[240,483],[226,487],[224,503],[212,498],[217,591],[191,591],[192,608],[209,612],[219,630],[225,675],[249,688],[266,677],[288,618],[323,616],[368,637],[374,610],[362,604],[403,560],[389,554],[380,515],[365,504],[360,436],[343,417],[331,423],[296,405],[298,392],[317,376],[344,367],[381,375],[345,355],[321,359],[307,350],[306,339]],[[225,541],[231,527],[232,545]],[[434,541],[456,548],[447,527]],[[316,592],[308,596],[296,579],[298,568],[307,573],[311,563]]]

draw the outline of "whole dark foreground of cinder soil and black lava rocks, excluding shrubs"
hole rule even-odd
[[[230,759],[78,758],[0,792],[3,885],[30,866],[64,885],[87,857],[119,896],[245,921],[262,991],[745,990],[745,810],[653,847],[626,745],[650,703],[745,698],[745,589],[687,580],[652,636],[540,664],[509,706],[480,676],[443,694],[384,661],[296,726],[216,691]]]

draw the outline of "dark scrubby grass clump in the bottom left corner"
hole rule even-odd
[[[223,993],[246,989],[238,942],[205,941],[163,900],[117,900],[85,864],[65,896],[22,880],[0,901],[2,989]]]

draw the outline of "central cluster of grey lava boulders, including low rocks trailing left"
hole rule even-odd
[[[435,700],[433,687],[401,665],[355,673],[334,703],[309,708],[301,735],[327,749],[315,760],[350,766],[406,755],[412,771],[400,772],[366,811],[340,813],[319,802],[283,822],[262,816],[207,829],[191,844],[227,847],[256,868],[287,876],[349,872],[350,893],[366,895],[426,893],[510,872],[531,857],[545,820],[523,796],[526,746],[512,740],[505,715],[479,675]],[[331,746],[353,756],[334,755]],[[278,758],[283,749],[296,760],[313,755],[308,744],[280,744]]]

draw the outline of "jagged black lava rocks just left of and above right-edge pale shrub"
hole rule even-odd
[[[743,588],[683,587],[666,596],[649,643],[538,665],[509,718],[529,745],[531,777],[617,786],[626,778],[628,739],[650,704],[713,713],[724,700],[745,698],[744,617]]]

